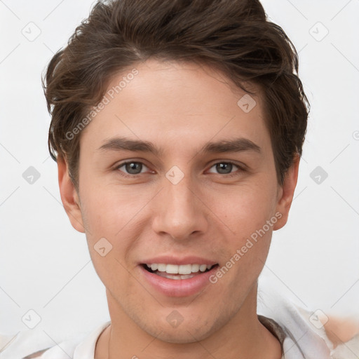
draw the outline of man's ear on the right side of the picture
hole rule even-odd
[[[292,205],[293,201],[294,189],[297,186],[299,160],[299,154],[297,154],[294,157],[292,166],[288,168],[285,173],[283,186],[280,186],[278,189],[276,212],[279,212],[282,217],[280,217],[273,226],[274,231],[282,228],[287,223],[290,205]]]

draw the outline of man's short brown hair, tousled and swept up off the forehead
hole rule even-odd
[[[294,156],[302,156],[309,102],[297,51],[259,1],[103,0],[53,56],[43,79],[50,155],[66,159],[76,189],[81,133],[66,134],[100,102],[111,76],[151,57],[210,65],[243,90],[248,81],[259,86],[283,184]]]

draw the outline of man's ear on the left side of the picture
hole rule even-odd
[[[64,205],[67,216],[76,231],[85,233],[79,196],[71,178],[69,177],[67,162],[63,157],[58,156],[57,158],[57,170],[61,201]]]

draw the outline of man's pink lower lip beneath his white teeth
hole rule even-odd
[[[140,265],[140,271],[144,278],[146,278],[158,292],[168,297],[189,297],[203,290],[206,285],[210,284],[210,276],[217,271],[217,267],[218,265],[215,265],[210,271],[196,274],[196,276],[189,279],[163,278],[147,271],[142,265]]]

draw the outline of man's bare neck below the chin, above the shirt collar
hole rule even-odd
[[[97,341],[95,359],[165,359],[174,353],[176,359],[281,358],[278,339],[257,317],[257,284],[227,323],[217,323],[215,330],[208,330],[200,338],[192,331],[191,339],[180,343],[166,341],[161,330],[149,334],[146,325],[137,325],[140,318],[130,318],[109,292],[107,300],[111,325]]]

